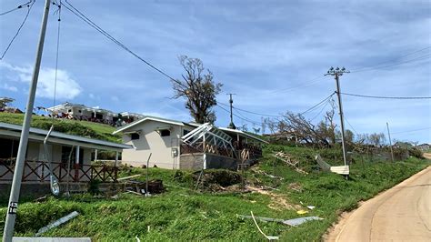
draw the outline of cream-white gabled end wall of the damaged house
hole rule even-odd
[[[171,127],[170,136],[160,136],[159,128]],[[139,139],[131,140],[130,132],[140,132]],[[153,120],[145,121],[137,126],[127,129],[123,135],[126,145],[135,146],[134,149],[124,149],[122,163],[130,166],[146,165],[146,160],[152,153],[149,166],[158,166],[167,169],[179,168],[179,144],[183,136],[183,126],[165,124]],[[172,149],[176,148],[178,156],[172,156]]]

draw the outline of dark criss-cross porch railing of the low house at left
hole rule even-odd
[[[59,182],[116,182],[118,168],[115,166],[95,166],[73,164],[68,172],[66,163],[53,162],[53,173]],[[12,181],[15,164],[0,160],[0,181]],[[23,182],[49,181],[49,166],[45,161],[25,161]]]

